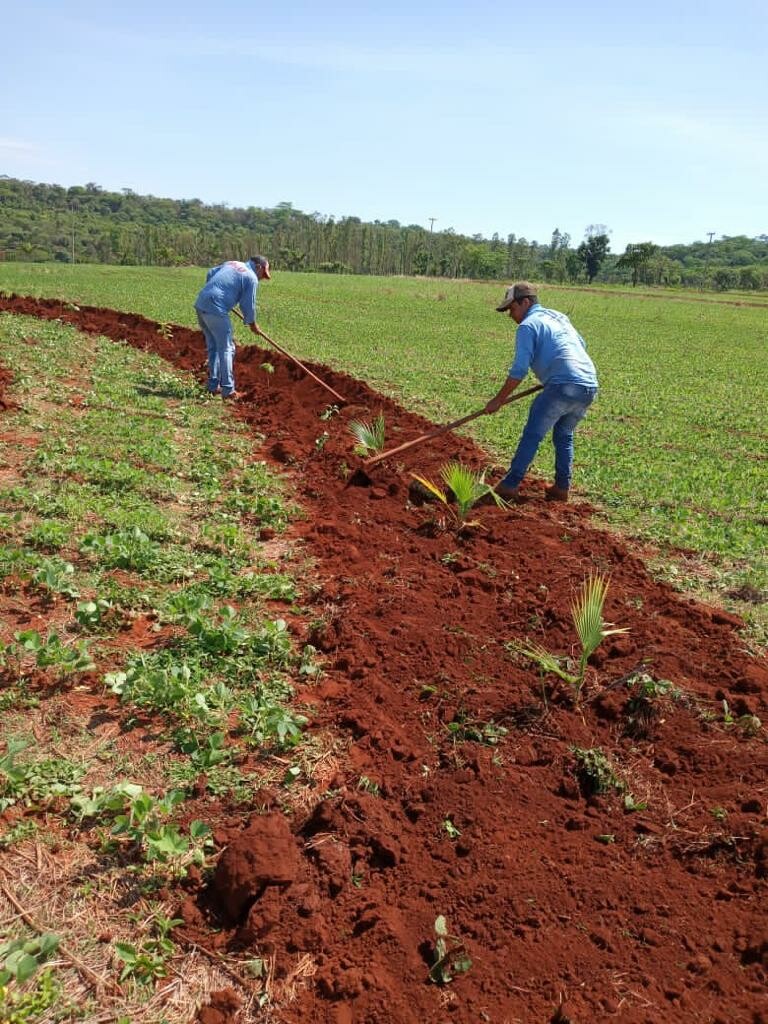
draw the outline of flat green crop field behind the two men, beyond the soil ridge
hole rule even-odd
[[[6,292],[188,326],[203,281],[188,267],[0,265]],[[514,324],[494,311],[498,284],[279,272],[259,294],[259,323],[275,341],[437,422],[480,408],[511,361]],[[577,493],[614,524],[703,555],[721,590],[768,587],[765,297],[749,306],[549,286],[541,296],[571,316],[600,376],[578,437]],[[523,417],[512,407],[472,433],[505,461]],[[535,470],[548,476],[551,467],[543,445]]]

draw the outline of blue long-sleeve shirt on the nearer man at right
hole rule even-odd
[[[517,328],[509,376],[522,380],[528,370],[542,384],[597,387],[597,372],[584,338],[565,313],[546,309],[538,302]]]

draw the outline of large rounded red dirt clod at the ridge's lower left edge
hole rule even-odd
[[[216,865],[212,888],[232,921],[240,921],[268,886],[289,886],[299,854],[282,814],[265,814],[230,840]]]

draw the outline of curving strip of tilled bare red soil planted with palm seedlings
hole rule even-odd
[[[55,301],[5,298],[0,309],[202,373],[202,336],[184,328],[166,339],[141,316]],[[302,695],[317,726],[348,737],[350,767],[304,820],[284,817],[276,796],[228,810],[216,830],[226,851],[211,885],[190,891],[181,934],[274,954],[276,981],[308,954],[286,1024],[768,1022],[765,728],[745,735],[722,707],[766,721],[768,666],[744,652],[738,620],[651,580],[587,506],[553,508],[537,482],[525,505],[482,509],[469,538],[424,528],[434,507],[409,500],[409,472],[434,477],[454,457],[483,464],[465,438],[437,438],[350,485],[350,418],[383,411],[391,444],[430,424],[311,369],[353,404],[319,420],[317,385],[273,352],[241,348],[245,399],[232,414],[266,437],[260,455],[293,476],[306,510],[295,532],[322,588],[305,638],[327,672]],[[598,650],[574,709],[504,643],[572,650],[570,601],[595,568],[611,577],[607,618],[631,632]],[[625,680],[640,666],[686,697],[633,736]],[[447,729],[492,720],[509,730],[498,746]],[[602,748],[647,807],[585,797],[573,745]],[[438,914],[472,958],[445,987],[427,977]],[[204,1019],[234,1020],[236,1005],[220,993]]]

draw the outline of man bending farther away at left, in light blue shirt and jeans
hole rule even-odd
[[[222,398],[238,397],[234,390],[234,336],[229,311],[239,305],[243,321],[254,334],[261,336],[256,323],[256,290],[260,281],[269,281],[269,261],[251,256],[246,263],[228,260],[212,267],[195,301],[198,323],[208,349],[208,391],[221,392]]]

